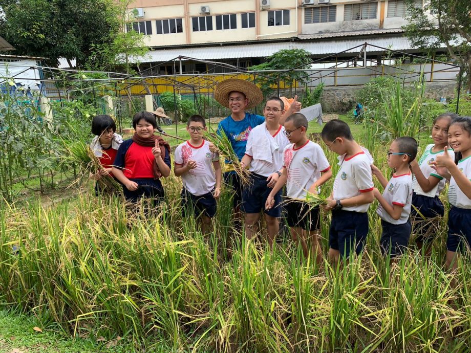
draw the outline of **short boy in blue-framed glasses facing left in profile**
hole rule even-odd
[[[409,164],[417,156],[417,141],[412,137],[399,137],[391,143],[388,151],[388,165],[395,169],[393,177],[384,178],[381,171],[371,165],[384,192],[374,188],[373,193],[379,205],[376,213],[381,218],[381,251],[391,258],[403,254],[411,236],[412,175]]]

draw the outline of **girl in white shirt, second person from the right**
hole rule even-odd
[[[432,252],[431,242],[434,238],[434,224],[432,218],[443,217],[445,212],[442,202],[438,197],[445,187],[445,179],[433,169],[433,162],[438,156],[443,155],[443,148],[448,146],[448,127],[454,113],[443,113],[439,115],[432,124],[433,144],[427,145],[420,160],[411,162],[412,172],[412,210],[411,220],[414,226],[414,233],[417,247],[424,248],[424,254],[430,256]],[[448,148],[448,154],[454,159],[455,152]]]

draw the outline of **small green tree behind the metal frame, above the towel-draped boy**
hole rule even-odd
[[[304,49],[283,49],[270,55],[266,58],[266,61],[260,65],[254,65],[248,68],[250,71],[257,70],[289,70],[298,67],[299,65],[309,64],[312,60],[309,58],[311,53]],[[307,69],[308,65],[301,69]],[[278,83],[278,76],[280,72],[262,72],[264,76],[256,76],[256,84],[260,86],[260,89],[266,95],[271,91],[271,86]],[[285,82],[288,87],[293,86],[293,81],[297,80],[301,83],[305,83],[308,80],[308,74],[306,71],[290,71],[280,76],[280,81]]]

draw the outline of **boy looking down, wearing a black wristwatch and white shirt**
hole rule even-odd
[[[331,120],[320,137],[327,148],[344,156],[334,180],[332,193],[322,208],[332,211],[329,228],[329,260],[337,264],[350,249],[359,254],[368,234],[368,208],[374,200],[371,159],[353,139],[345,121]]]

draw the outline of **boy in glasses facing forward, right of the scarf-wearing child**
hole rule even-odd
[[[201,232],[204,234],[216,214],[216,200],[221,193],[221,165],[219,155],[211,152],[209,142],[203,140],[206,131],[204,118],[191,116],[186,130],[190,139],[175,150],[174,172],[177,177],[182,177],[183,212],[196,211],[197,218],[201,216]]]

